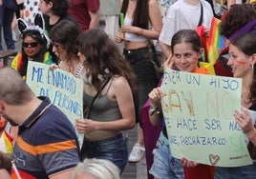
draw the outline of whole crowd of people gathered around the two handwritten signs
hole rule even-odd
[[[144,155],[149,179],[256,178],[253,156],[251,165],[229,168],[172,155],[159,71],[210,74],[199,66],[203,39],[209,38],[212,19],[220,19],[225,47],[218,49],[214,72],[243,79],[242,108],[232,115],[248,138],[245,143],[256,149],[248,112],[256,110],[255,2],[40,0],[29,23],[18,13],[27,1],[37,0],[0,0],[0,51],[2,34],[7,50],[16,50],[15,13],[22,42],[11,67],[0,69],[0,178],[118,179],[128,162]],[[99,29],[100,14],[104,30]],[[36,96],[26,84],[30,61],[83,82],[78,97],[84,112],[72,119],[75,125],[51,97]],[[124,132],[136,125],[137,142],[129,154]],[[77,132],[83,135],[81,146]]]

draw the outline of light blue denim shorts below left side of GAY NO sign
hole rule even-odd
[[[181,160],[172,157],[168,145],[159,146],[153,150],[153,154],[154,162],[149,173],[160,179],[184,179]]]

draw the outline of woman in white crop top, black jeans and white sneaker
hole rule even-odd
[[[116,42],[124,42],[123,55],[137,75],[135,106],[137,121],[141,127],[140,110],[147,100],[147,94],[157,87],[159,79],[152,61],[160,66],[151,40],[158,39],[162,27],[160,9],[155,0],[123,0],[121,12],[124,25],[116,35]],[[143,132],[139,128],[138,140],[130,156],[130,162],[139,162],[143,156]]]

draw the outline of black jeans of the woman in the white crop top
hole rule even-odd
[[[148,93],[157,87],[158,79],[153,66],[150,62],[148,47],[137,50],[123,50],[124,58],[130,63],[137,76],[137,91],[134,93],[137,122],[140,122],[140,110],[148,99]],[[152,57],[157,59],[156,50],[153,49]],[[159,61],[156,61],[159,64]],[[141,123],[139,123],[141,125]]]

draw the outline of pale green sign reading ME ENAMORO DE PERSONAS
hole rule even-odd
[[[50,70],[49,65],[29,62],[27,84],[36,96],[48,96],[75,127],[75,119],[83,117],[83,82],[64,70]],[[76,132],[80,146],[83,135]]]

